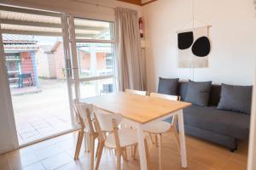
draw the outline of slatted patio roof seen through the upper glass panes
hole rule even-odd
[[[61,15],[0,6],[0,26],[3,34],[62,36]],[[111,23],[98,20],[74,19],[77,38],[92,39],[108,36]]]

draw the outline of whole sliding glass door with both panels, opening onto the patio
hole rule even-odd
[[[77,127],[73,99],[116,91],[114,23],[0,6],[19,145]]]

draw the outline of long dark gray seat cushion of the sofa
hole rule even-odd
[[[232,111],[220,111],[216,107],[192,105],[183,110],[184,123],[237,139],[247,139],[250,116]]]

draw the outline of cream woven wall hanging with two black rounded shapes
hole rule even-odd
[[[208,27],[203,26],[177,32],[178,67],[207,68],[211,43]]]

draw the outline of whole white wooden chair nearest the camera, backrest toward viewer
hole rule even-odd
[[[117,165],[116,169],[121,169],[121,156],[125,156],[125,148],[128,146],[137,145],[137,132],[131,128],[120,128],[119,123],[122,121],[123,116],[108,111],[102,111],[99,108],[95,108],[96,115],[96,129],[99,133],[99,149],[96,160],[96,170],[99,168],[99,164],[102,157],[103,147],[116,150]],[[108,132],[105,137],[104,132]],[[148,157],[148,144],[145,141],[145,147]]]

